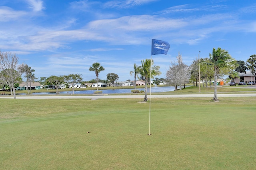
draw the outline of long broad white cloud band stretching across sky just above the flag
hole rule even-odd
[[[212,25],[212,22],[215,24]],[[193,29],[191,29],[192,26]],[[62,27],[62,29],[65,28]],[[124,16],[114,19],[95,20],[89,22],[83,29],[77,30],[38,30],[38,32],[33,32],[33,35],[15,37],[16,43],[12,43],[10,48],[28,51],[68,49],[70,48],[69,43],[78,40],[103,41],[112,45],[134,45],[143,44],[148,38],[157,37],[160,33],[166,38],[170,37],[173,43],[196,44],[208,38],[214,32],[228,32],[238,29],[245,29],[244,24],[237,22],[229,14],[212,14],[182,19],[163,18],[158,15]],[[168,34],[165,34],[166,32]],[[4,44],[6,45],[6,43]],[[110,49],[96,48],[90,50],[106,51]]]

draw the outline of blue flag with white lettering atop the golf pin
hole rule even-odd
[[[161,40],[152,39],[151,55],[167,54],[170,44]]]

